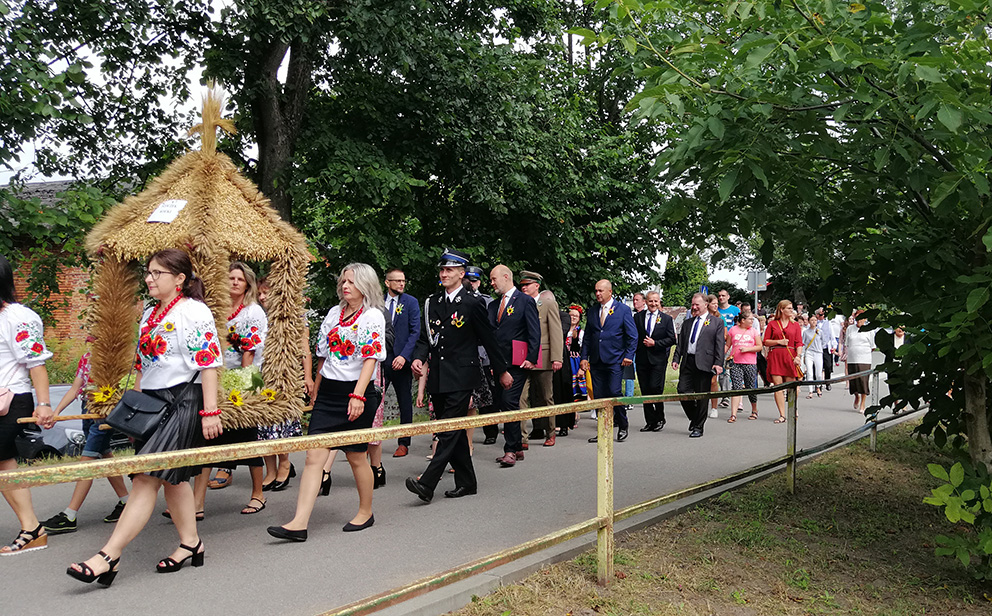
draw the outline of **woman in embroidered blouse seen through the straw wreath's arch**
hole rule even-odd
[[[268,319],[265,311],[258,305],[258,284],[255,272],[250,267],[234,261],[228,267],[228,281],[231,284],[231,313],[227,317],[227,339],[224,351],[224,368],[235,370],[248,366],[261,366],[261,353],[255,350],[265,344],[268,331]],[[215,445],[232,445],[258,440],[257,428],[236,428],[228,430],[224,436],[213,443]],[[264,474],[262,458],[247,458],[218,463],[215,486],[226,488],[231,485],[231,475],[238,465],[248,466],[251,473],[251,498],[248,504],[241,508],[243,515],[258,513],[265,509],[265,499],[262,498],[262,476]],[[222,473],[226,474],[226,478]],[[204,501],[207,486],[210,485],[210,467],[204,467],[200,476],[194,481],[193,491],[196,496],[197,519],[204,517]],[[218,485],[219,484],[219,485]],[[169,512],[163,513],[163,515]]]

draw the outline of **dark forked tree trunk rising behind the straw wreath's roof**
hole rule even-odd
[[[279,66],[290,52],[286,84],[279,82]],[[286,190],[296,139],[306,112],[313,82],[308,45],[281,41],[260,47],[245,70],[251,84],[252,121],[258,138],[258,185],[286,221],[292,221],[293,200]]]

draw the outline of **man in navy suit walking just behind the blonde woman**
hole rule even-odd
[[[400,407],[400,423],[413,423],[413,373],[410,371],[410,361],[413,350],[420,338],[420,304],[417,299],[410,297],[406,289],[406,275],[403,270],[394,267],[386,272],[386,319],[392,322],[395,342],[392,349],[386,353],[386,361],[382,363],[385,387],[390,384],[396,392],[396,401]],[[385,392],[384,392],[385,393]],[[402,458],[410,448],[410,437],[404,436],[399,440],[394,458]]]

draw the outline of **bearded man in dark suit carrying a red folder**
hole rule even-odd
[[[505,265],[494,267],[489,273],[489,281],[496,292],[503,296],[500,301],[494,299],[489,304],[489,322],[496,328],[497,346],[503,356],[508,358],[507,372],[513,379],[511,386],[497,392],[499,410],[516,411],[520,408],[520,394],[527,381],[527,371],[534,368],[541,349],[541,323],[537,314],[537,302],[513,286],[513,274]],[[514,347],[517,347],[516,353]],[[501,467],[508,468],[524,458],[519,421],[503,424],[503,440],[503,456],[496,458],[496,462]]]

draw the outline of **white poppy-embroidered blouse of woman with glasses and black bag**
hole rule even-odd
[[[152,314],[145,310],[141,327]],[[166,389],[189,381],[193,374],[221,366],[220,337],[214,315],[203,302],[185,299],[138,342],[142,389]]]

